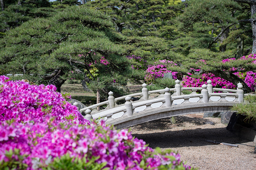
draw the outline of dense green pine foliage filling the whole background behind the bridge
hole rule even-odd
[[[169,69],[186,75],[196,60],[211,63],[256,53],[254,0],[0,2],[2,74],[24,73],[31,81],[52,83],[59,90],[71,71],[85,90],[89,84],[91,88],[106,87],[106,83],[95,81],[90,63],[109,84],[113,80],[125,84],[124,77],[117,78],[119,74],[143,79],[143,70],[129,69],[131,61],[126,55],[140,56],[151,65],[158,59],[172,60],[177,66]],[[100,65],[101,57],[110,64]],[[233,66],[237,64],[229,67]],[[234,83],[241,81],[229,74],[227,66],[197,67],[202,70],[194,76],[215,73]],[[247,70],[254,67],[250,65]]]

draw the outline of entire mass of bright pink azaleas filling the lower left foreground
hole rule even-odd
[[[0,169],[193,169],[128,130],[90,123],[65,98],[0,76]]]

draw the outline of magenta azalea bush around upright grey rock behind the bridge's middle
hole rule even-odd
[[[167,65],[176,65],[169,60],[159,60],[159,62],[163,64],[148,66],[148,69],[146,70],[145,81],[151,83],[154,82],[154,80],[156,80],[157,78],[164,77],[165,73],[172,72],[170,70],[167,70]],[[177,79],[177,76],[177,72],[172,72],[173,79]]]

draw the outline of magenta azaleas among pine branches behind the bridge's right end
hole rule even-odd
[[[256,54],[250,54],[248,56],[243,56],[239,60],[248,60],[254,59],[252,63],[256,63]],[[236,60],[235,58],[222,60],[223,63],[230,62],[232,60]],[[237,70],[237,68],[231,68],[231,70]],[[236,76],[240,77],[244,82],[250,87],[252,90],[256,91],[256,73],[253,71],[248,71],[245,73],[236,72],[233,73]],[[207,80],[212,80],[212,86],[216,88],[226,88],[226,89],[235,89],[236,85],[233,83],[222,79],[220,77],[216,77],[212,73],[204,73],[199,78],[192,78],[189,76],[184,76],[182,81],[183,87],[201,87],[203,84],[207,84]]]

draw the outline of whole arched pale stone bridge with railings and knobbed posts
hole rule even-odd
[[[244,102],[244,91],[241,83],[237,84],[237,90],[213,88],[211,80],[208,80],[208,84],[204,84],[202,87],[181,87],[180,80],[176,80],[175,83],[175,88],[166,87],[162,90],[153,91],[148,91],[147,84],[144,83],[141,93],[118,98],[114,98],[110,91],[107,101],[82,108],[80,112],[85,112],[84,117],[88,120],[101,117],[106,124],[114,124],[116,128],[123,128],[163,117],[198,112],[227,111],[230,106]],[[192,93],[184,95],[182,93],[184,90],[191,90]],[[198,91],[201,93],[197,94]],[[173,94],[171,95],[170,92]],[[132,101],[132,97],[140,97],[140,99]],[[125,104],[118,105],[120,100],[125,100]],[[101,106],[106,107],[98,111],[97,107]]]

